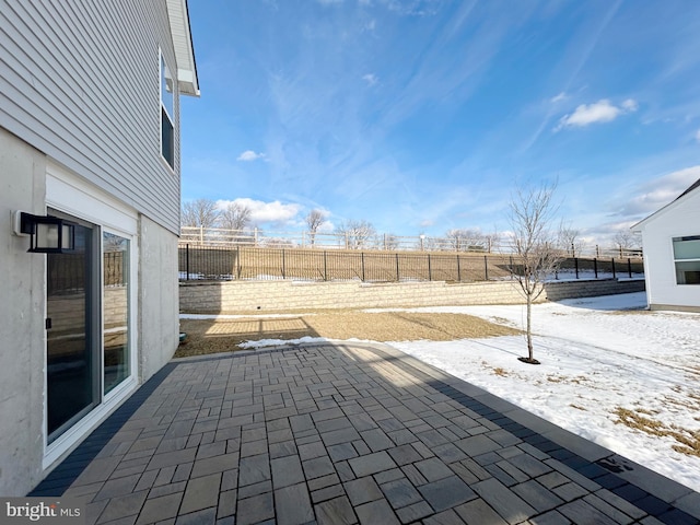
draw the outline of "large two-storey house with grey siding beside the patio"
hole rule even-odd
[[[0,0],[1,495],[177,348],[182,94],[186,0]],[[63,249],[27,253],[59,220]]]

